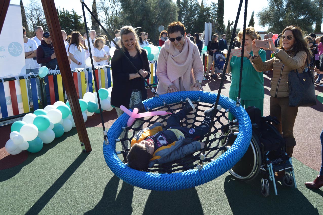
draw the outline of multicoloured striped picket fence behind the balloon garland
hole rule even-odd
[[[157,85],[158,79],[156,76],[157,62],[150,64],[151,76],[147,82],[151,86]],[[51,72],[51,70],[50,70]],[[86,92],[94,92],[94,79],[92,71],[87,69],[77,69],[73,72],[74,85],[77,91],[78,98],[83,98]],[[113,86],[112,73],[110,66],[96,67],[95,69],[96,81],[99,83],[98,89],[109,88]],[[29,78],[31,84],[31,92],[33,101],[38,101],[36,75],[20,76],[15,78],[7,78],[0,80],[0,122],[12,119],[15,117],[21,117],[26,113],[31,113],[27,82],[26,78]],[[57,77],[57,84],[54,84],[54,76]],[[52,74],[48,74],[48,86],[50,94],[50,103],[54,104],[57,101],[64,102],[64,90],[62,76],[59,70],[52,71]],[[58,91],[58,100],[55,99],[55,89]],[[95,89],[95,88],[94,88]],[[39,93],[40,94],[40,93]],[[45,96],[46,97],[46,96]],[[39,109],[38,102],[34,102],[34,110]]]

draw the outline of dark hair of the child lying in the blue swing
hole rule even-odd
[[[151,154],[141,144],[136,143],[130,148],[127,159],[129,167],[140,171],[147,171]]]

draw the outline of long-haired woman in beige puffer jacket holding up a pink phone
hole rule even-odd
[[[272,39],[269,41],[270,48],[274,52],[274,58],[263,62],[257,53],[259,48],[255,47],[253,41],[253,63],[260,71],[273,70],[273,78],[270,86],[270,115],[276,116],[281,122],[276,126],[286,140],[286,152],[289,157],[293,154],[296,141],[293,134],[298,107],[289,107],[289,85],[288,73],[291,70],[303,72],[304,66],[310,55],[306,40],[302,31],[296,26],[288,26],[283,30],[282,41],[278,48]]]

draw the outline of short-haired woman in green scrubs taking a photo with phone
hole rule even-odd
[[[238,33],[238,41],[242,44],[242,36],[243,31],[239,31]],[[242,71],[242,83],[241,83],[241,105],[245,108],[248,106],[255,106],[260,109],[261,115],[264,113],[264,75],[263,70],[257,70],[255,65],[252,63],[252,41],[257,39],[258,36],[255,32],[254,27],[247,27],[245,29],[245,51],[243,56],[241,56],[241,48],[240,54],[234,56],[232,53],[229,57],[229,63],[226,72],[231,72],[232,74],[232,82],[229,91],[230,99],[236,101],[239,92],[239,80],[240,80],[240,66],[241,66],[241,58],[244,58],[243,63],[243,71]],[[233,49],[231,51],[234,51]],[[238,51],[234,51],[238,52]],[[258,55],[262,61],[266,61],[266,52],[264,50],[259,50]],[[233,119],[233,115],[229,113],[229,119]]]

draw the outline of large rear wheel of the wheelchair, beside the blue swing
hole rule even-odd
[[[232,126],[233,132],[239,132],[239,127]],[[234,143],[236,139],[235,135],[229,137],[227,149]],[[221,145],[224,145],[226,139],[223,139]],[[229,170],[229,173],[234,176],[235,178],[242,180],[242,181],[250,181],[257,177],[260,171],[261,165],[261,151],[258,145],[259,139],[256,135],[252,135],[250,145],[247,149],[245,155],[241,158],[238,163],[234,165]],[[227,149],[224,149],[222,153],[224,153]]]

